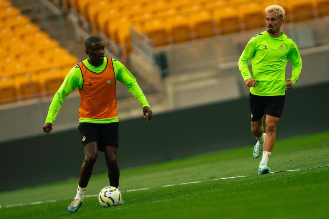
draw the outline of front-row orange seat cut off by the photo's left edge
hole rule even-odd
[[[0,78],[0,104],[16,101],[16,89],[13,80]]]

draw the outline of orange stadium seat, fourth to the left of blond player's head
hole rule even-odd
[[[185,42],[192,39],[192,31],[187,15],[179,14],[172,16],[167,22],[170,28],[170,38],[173,43]]]

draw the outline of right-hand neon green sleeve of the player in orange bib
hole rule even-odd
[[[143,94],[142,89],[137,84],[136,78],[130,73],[130,71],[119,61],[113,60],[114,72],[116,79],[126,86],[129,92],[134,96],[135,99],[140,102],[142,107],[150,107],[150,104],[146,100],[145,95]]]

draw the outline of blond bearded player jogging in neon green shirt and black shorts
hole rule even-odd
[[[283,112],[285,90],[293,89],[302,71],[302,59],[296,43],[281,32],[285,9],[280,5],[270,5],[265,8],[265,15],[267,30],[249,40],[239,59],[239,70],[245,84],[250,87],[251,131],[257,138],[253,156],[258,158],[262,155],[259,175],[271,171],[267,163],[276,141],[276,126]],[[252,75],[248,68],[250,59]],[[288,60],[293,69],[286,82]]]

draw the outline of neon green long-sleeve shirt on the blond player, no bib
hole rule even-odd
[[[251,59],[251,76],[248,61]],[[239,59],[239,70],[243,80],[259,80],[250,93],[259,96],[285,95],[286,66],[293,65],[291,81],[296,84],[302,71],[302,59],[296,43],[285,34],[271,37],[267,30],[252,37]]]

